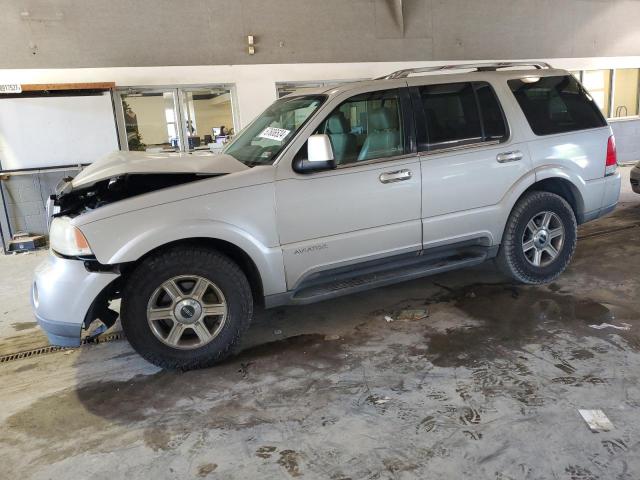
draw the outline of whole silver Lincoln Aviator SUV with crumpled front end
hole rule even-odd
[[[422,75],[418,75],[422,74]],[[281,98],[222,154],[118,152],[52,197],[33,283],[50,341],[78,345],[121,298],[165,368],[232,354],[256,302],[326,300],[495,258],[567,267],[577,225],[618,202],[614,139],[547,64],[413,69]]]

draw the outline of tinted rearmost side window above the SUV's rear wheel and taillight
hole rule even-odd
[[[536,135],[607,124],[591,96],[572,75],[509,80],[508,83]]]

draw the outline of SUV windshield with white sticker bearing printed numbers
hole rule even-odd
[[[271,165],[325,98],[323,95],[281,98],[241,131],[222,153],[249,167]]]

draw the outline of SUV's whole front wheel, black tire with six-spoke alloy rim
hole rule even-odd
[[[129,343],[162,368],[213,365],[232,354],[253,314],[251,288],[228,257],[175,247],[143,261],[122,297]]]

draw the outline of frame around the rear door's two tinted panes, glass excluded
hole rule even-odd
[[[455,144],[433,148],[434,145],[438,145],[438,144],[431,144],[429,142],[428,121],[427,121],[427,115],[424,111],[424,103],[422,102],[422,96],[420,95],[420,88],[429,87],[432,85],[454,85],[454,84],[471,85],[471,88],[473,89],[473,95],[475,98],[476,108],[478,110],[478,116],[480,120],[480,132],[483,139],[479,142],[465,142],[464,140],[458,140],[457,142],[456,141],[440,142],[439,145],[443,145],[444,143],[447,143],[447,144],[455,143]],[[485,127],[484,127],[484,118],[482,115],[482,108],[480,106],[480,99],[478,98],[478,87],[485,86],[485,85],[491,89],[491,92],[493,93],[493,96],[495,97],[496,102],[498,102],[500,115],[502,117],[502,121],[504,122],[505,133],[504,133],[504,136],[500,139],[485,140],[486,134],[485,134]],[[413,110],[414,110],[414,116],[415,116],[416,144],[417,144],[418,153],[420,155],[499,145],[501,143],[506,143],[511,139],[511,127],[509,125],[507,115],[505,113],[504,107],[502,106],[500,96],[496,92],[496,89],[491,84],[491,82],[488,82],[485,80],[472,80],[472,81],[462,81],[462,82],[438,82],[438,83],[425,83],[423,85],[413,85],[409,88],[411,90],[411,101],[413,104]]]

